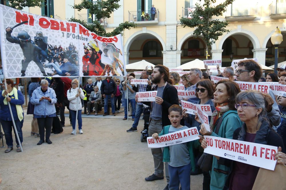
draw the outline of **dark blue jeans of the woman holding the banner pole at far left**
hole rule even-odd
[[[17,147],[19,147],[20,145],[19,145],[19,142],[18,142],[18,139],[17,139],[17,136],[16,136],[16,132],[15,132],[14,127],[13,127],[13,122],[12,121],[5,121],[5,120],[2,120],[2,119],[0,119],[0,122],[1,122],[1,125],[2,125],[2,128],[3,128],[4,134],[5,134],[5,140],[6,140],[6,144],[7,144],[8,148],[12,148],[13,147],[12,128],[13,128],[13,131],[14,131],[14,134],[15,134]],[[22,121],[20,121],[19,119],[15,120],[15,126],[16,126],[16,129],[17,129],[17,132],[18,132],[21,144],[23,142],[23,133],[22,133],[23,122],[24,122],[24,119]]]

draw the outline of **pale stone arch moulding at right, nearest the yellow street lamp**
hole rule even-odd
[[[250,39],[250,41],[253,44],[253,49],[259,49],[260,48],[260,43],[259,40],[257,38],[257,36],[255,36],[255,34],[253,34],[251,31],[249,30],[245,30],[245,29],[236,29],[236,30],[232,30],[231,32],[227,33],[226,35],[223,36],[223,38],[221,39],[221,41],[219,42],[219,50],[221,50],[223,48],[223,42],[225,42],[225,40],[235,34],[240,34],[243,36],[246,36],[247,38]]]

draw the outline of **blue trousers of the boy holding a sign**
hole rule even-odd
[[[169,167],[170,183],[169,189],[179,189],[181,184],[182,190],[190,190],[190,175],[191,175],[191,164],[179,167]]]

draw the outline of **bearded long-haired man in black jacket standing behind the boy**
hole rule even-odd
[[[144,104],[151,106],[150,122],[148,128],[149,136],[154,133],[160,133],[164,126],[170,125],[171,122],[168,119],[168,109],[171,105],[179,105],[178,92],[176,88],[170,85],[169,69],[163,65],[156,65],[153,73],[151,74],[151,81],[156,86],[152,89],[157,90],[157,96],[155,102],[145,102]],[[137,98],[136,98],[137,100]],[[146,181],[154,181],[158,179],[164,179],[164,163],[163,154],[161,148],[151,148],[151,152],[154,158],[155,172],[146,177]],[[165,175],[167,179],[167,186],[165,189],[169,189],[169,171],[168,163],[165,163]]]

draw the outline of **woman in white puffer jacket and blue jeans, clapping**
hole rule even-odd
[[[72,88],[67,90],[67,99],[69,100],[69,111],[72,115],[72,134],[76,133],[76,111],[78,110],[78,130],[82,131],[82,99],[84,92],[78,89],[78,79],[72,80]]]

